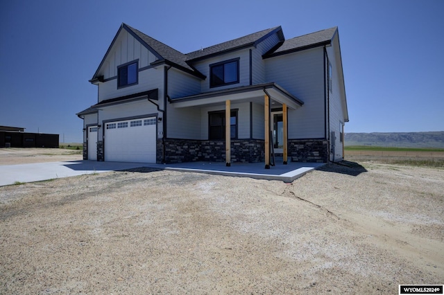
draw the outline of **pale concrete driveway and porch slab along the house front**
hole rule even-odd
[[[16,181],[44,181],[62,177],[129,170],[142,167],[291,182],[294,179],[305,175],[305,173],[323,165],[325,165],[325,163],[288,163],[288,165],[277,164],[276,166],[271,166],[270,169],[265,169],[264,163],[232,163],[230,167],[225,166],[225,163],[210,162],[166,165],[155,163],[99,161],[31,163],[0,166],[0,186],[14,184]]]

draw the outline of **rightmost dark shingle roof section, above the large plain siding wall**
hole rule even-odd
[[[269,52],[267,56],[273,55],[281,55],[284,53],[289,53],[292,51],[298,51],[302,48],[307,48],[311,46],[317,46],[322,44],[329,44],[336,33],[338,27],[327,28],[325,30],[319,30],[315,33],[310,33],[307,35],[302,35],[299,37],[294,37],[288,40],[285,40],[282,46],[276,49],[273,52]]]

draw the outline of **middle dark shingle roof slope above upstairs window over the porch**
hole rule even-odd
[[[277,26],[275,28],[268,28],[266,30],[261,30],[259,32],[246,35],[244,37],[240,37],[234,40],[223,42],[221,44],[203,48],[198,51],[187,53],[187,60],[189,61],[198,60],[203,57],[210,57],[211,55],[217,55],[219,53],[224,53],[227,51],[232,51],[243,47],[255,46],[263,39],[265,39],[270,35],[273,35],[274,33],[278,33],[280,39],[282,41],[284,40],[284,33],[282,33],[282,28],[280,26]]]

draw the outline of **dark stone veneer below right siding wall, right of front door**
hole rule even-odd
[[[329,158],[325,139],[289,139],[289,158],[292,162],[326,163]]]

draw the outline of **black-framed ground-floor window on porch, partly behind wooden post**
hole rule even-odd
[[[225,139],[225,111],[208,113],[208,138],[210,140]],[[237,138],[237,109],[230,114],[230,138]]]

